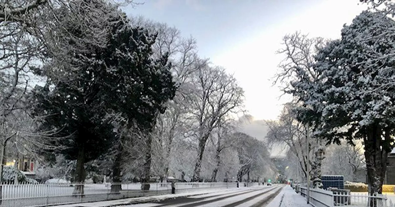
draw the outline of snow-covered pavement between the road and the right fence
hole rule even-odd
[[[310,204],[307,204],[305,197],[297,194],[289,185],[285,186],[280,194],[284,194],[280,207],[311,207]],[[278,207],[276,204],[279,204],[279,200],[281,199],[275,198],[268,207]]]

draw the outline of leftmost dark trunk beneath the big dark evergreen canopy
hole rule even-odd
[[[84,182],[85,182],[85,146],[79,144],[78,155],[77,155],[77,166],[75,167],[75,188],[73,194],[84,195]]]

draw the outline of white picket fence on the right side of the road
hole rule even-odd
[[[302,196],[306,196],[307,187],[299,186],[299,190]],[[387,201],[387,196],[382,194],[344,194],[316,188],[310,188],[310,204],[314,207],[394,207],[392,202]]]

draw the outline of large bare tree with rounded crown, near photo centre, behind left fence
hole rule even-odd
[[[194,91],[188,96],[196,122],[193,137],[198,142],[193,181],[199,181],[201,160],[205,145],[220,120],[237,114],[243,110],[243,89],[237,85],[236,79],[226,74],[221,67],[201,67],[192,77]],[[192,88],[191,88],[192,89]]]

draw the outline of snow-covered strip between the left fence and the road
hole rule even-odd
[[[254,186],[257,187],[257,186]],[[198,190],[195,192],[184,192],[179,194],[167,194],[167,195],[160,195],[160,196],[147,196],[147,197],[139,197],[139,198],[127,198],[127,199],[120,199],[120,200],[112,200],[112,201],[100,201],[100,202],[91,202],[91,203],[75,203],[70,205],[56,205],[52,207],[77,207],[83,205],[84,207],[111,207],[111,206],[119,206],[119,205],[129,205],[134,203],[147,203],[147,202],[154,202],[154,201],[161,201],[173,198],[182,198],[188,196],[198,196],[203,194],[211,194],[211,195],[221,195],[224,193],[229,192],[237,192],[237,191],[245,191],[250,190],[254,187],[242,187],[242,188],[231,188],[231,189],[221,189],[218,192],[218,189],[207,189],[207,190]]]

